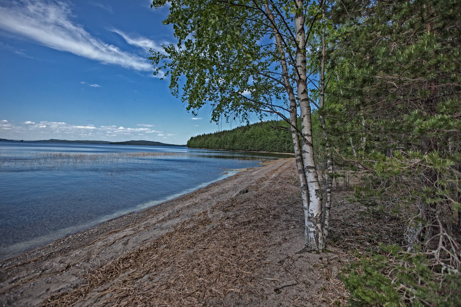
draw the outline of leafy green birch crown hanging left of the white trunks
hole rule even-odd
[[[212,106],[212,120],[248,119],[288,108],[278,80],[279,58],[266,44],[272,28],[263,3],[172,0],[164,24],[172,24],[177,45],[152,52],[155,74],[169,75],[171,92],[195,114]],[[154,7],[165,5],[155,0]],[[292,2],[286,3],[292,14]],[[280,8],[283,7],[280,4]],[[291,16],[287,17],[291,18]],[[292,46],[292,42],[288,42]],[[165,74],[165,75],[162,75]],[[283,113],[283,112],[282,112]],[[262,117],[261,117],[262,118]]]

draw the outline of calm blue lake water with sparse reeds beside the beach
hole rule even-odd
[[[0,141],[0,258],[286,156]]]

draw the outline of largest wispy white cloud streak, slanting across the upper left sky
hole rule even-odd
[[[146,58],[106,44],[73,22],[68,3],[31,0],[1,3],[0,28],[3,30],[103,64],[116,64],[137,71],[153,70]]]

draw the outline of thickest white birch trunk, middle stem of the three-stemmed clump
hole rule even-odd
[[[319,177],[315,169],[314,151],[312,144],[311,108],[307,92],[306,75],[306,31],[304,29],[303,0],[296,0],[297,11],[295,14],[296,35],[296,70],[297,70],[297,95],[301,111],[302,156],[304,173],[309,189],[309,207],[307,212],[307,229],[305,248],[319,250],[325,247],[322,232],[322,192]]]

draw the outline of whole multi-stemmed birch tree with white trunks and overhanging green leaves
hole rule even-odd
[[[152,7],[165,4],[166,0],[155,0]],[[307,57],[316,52],[307,45],[322,27],[325,36],[324,1],[172,0],[168,4],[163,23],[172,25],[177,44],[164,46],[164,52],[151,50],[154,74],[169,78],[171,92],[194,115],[209,104],[216,122],[273,114],[290,124],[305,246],[323,249],[330,204],[323,207],[314,161],[309,87],[324,74],[325,65],[321,71],[307,67]],[[299,116],[301,129],[296,124]]]

